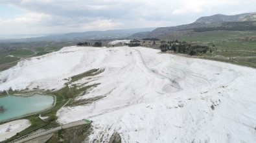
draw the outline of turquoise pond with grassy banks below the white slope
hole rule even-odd
[[[6,109],[0,113],[0,122],[11,118],[36,113],[52,107],[53,96],[34,94],[33,96],[4,96],[0,97],[0,105]]]

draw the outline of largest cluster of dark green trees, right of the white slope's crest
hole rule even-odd
[[[209,50],[207,46],[200,45],[191,45],[186,43],[185,41],[180,42],[176,41],[161,41],[161,45],[159,47],[162,52],[167,52],[167,50],[173,50],[174,52],[179,52],[183,54],[190,54],[191,56],[196,55],[198,53],[206,53]]]

